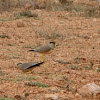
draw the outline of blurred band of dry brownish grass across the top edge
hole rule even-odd
[[[28,6],[27,8],[27,5]],[[95,6],[94,6],[95,5]],[[11,11],[15,8],[65,10],[75,15],[85,17],[100,17],[100,4],[96,1],[74,2],[74,0],[1,0],[0,13]],[[72,15],[73,15],[72,14]]]

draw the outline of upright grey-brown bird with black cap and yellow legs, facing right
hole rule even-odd
[[[55,46],[56,46],[55,42],[50,42],[49,44],[39,46],[39,47],[37,47],[33,50],[29,50],[29,51],[41,53],[42,54],[41,59],[42,59],[42,62],[44,62],[44,55],[46,53],[48,53],[50,50],[53,50]]]

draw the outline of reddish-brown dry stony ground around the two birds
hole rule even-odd
[[[89,100],[75,94],[90,82],[100,86],[100,18],[70,16],[66,11],[32,12],[38,17],[14,19],[8,12],[0,16],[0,97],[51,100],[54,94],[59,100]],[[27,51],[50,41],[58,46],[45,56],[43,65],[32,73],[17,68],[19,62],[40,61]]]

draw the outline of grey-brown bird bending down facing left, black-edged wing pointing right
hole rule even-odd
[[[33,67],[40,66],[43,62],[28,62],[28,63],[18,63],[17,66],[22,71],[30,71]]]

